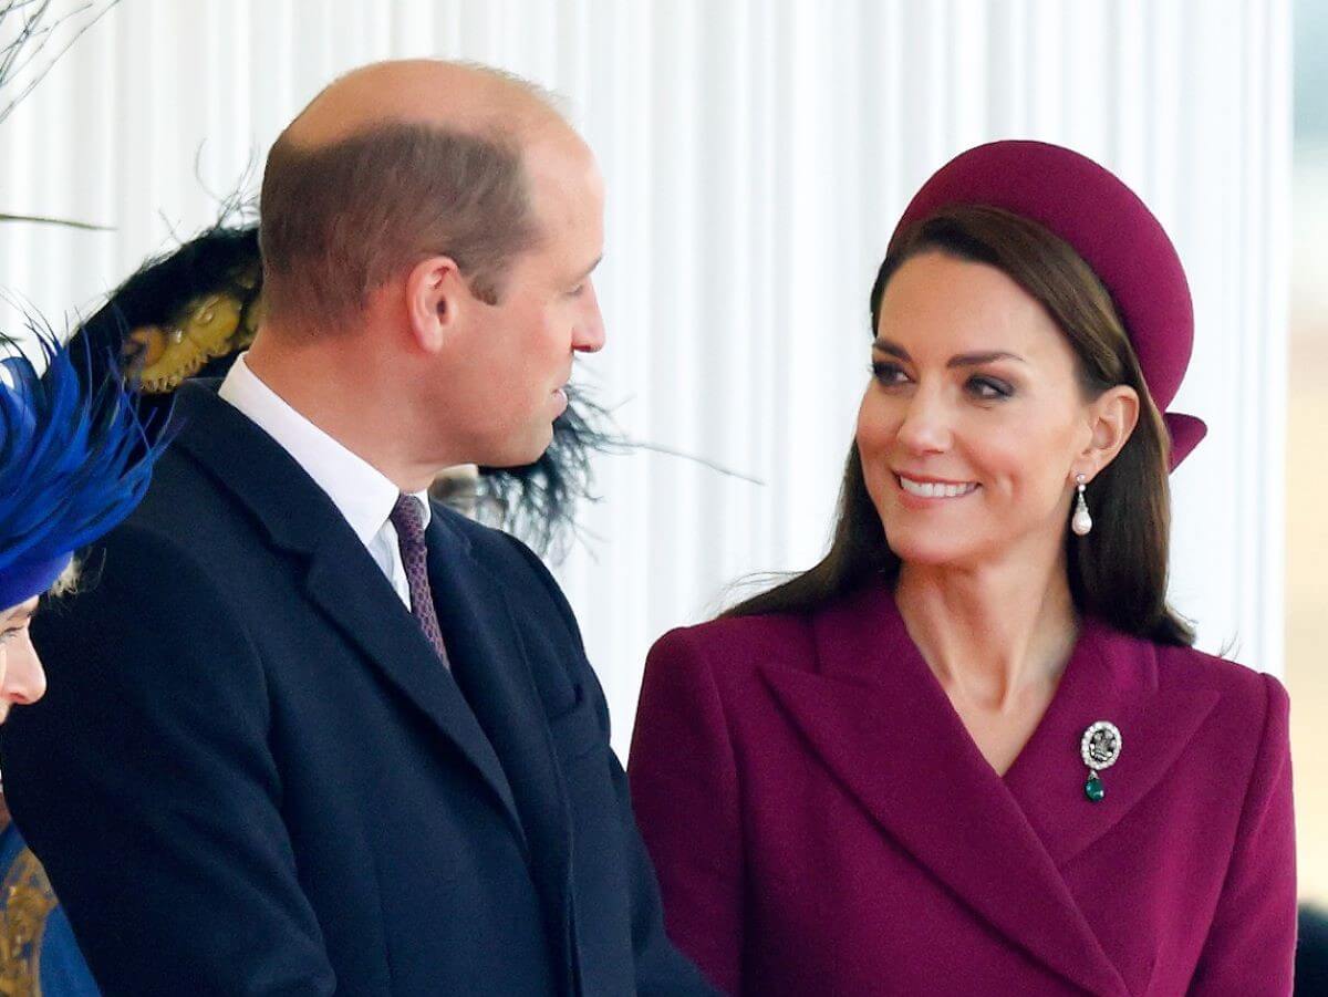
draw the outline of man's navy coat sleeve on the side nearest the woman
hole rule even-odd
[[[608,746],[608,704],[604,700],[599,680],[584,660],[584,644],[580,628],[576,625],[576,616],[572,613],[571,605],[567,604],[566,596],[558,588],[558,583],[548,574],[543,562],[515,538],[509,536],[506,539],[511,540],[526,562],[535,570],[544,589],[558,607],[559,615],[571,631],[576,647],[582,651],[584,674],[580,678],[595,700],[600,728],[604,731],[604,751],[608,755],[610,775],[614,782],[614,793],[618,798],[619,819],[622,822],[627,882],[631,891],[629,915],[636,994],[637,997],[684,997],[684,994],[710,997],[714,990],[701,978],[696,965],[677,949],[664,931],[664,908],[660,901],[659,884],[655,879],[655,868],[651,864],[641,834],[637,830],[628,793],[627,774]]]

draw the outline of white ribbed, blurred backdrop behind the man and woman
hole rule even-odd
[[[0,287],[56,324],[256,191],[280,127],[351,66],[465,57],[564,96],[610,196],[608,348],[576,380],[655,447],[599,459],[558,567],[624,754],[649,644],[822,552],[867,291],[910,194],[992,138],[1116,170],[1195,297],[1177,408],[1210,434],[1173,481],[1173,600],[1203,648],[1288,681],[1301,880],[1328,901],[1328,1],[53,8],[69,17],[45,53],[72,48],[0,121],[0,212],[106,231],[0,224]]]

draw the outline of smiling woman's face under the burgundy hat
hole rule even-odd
[[[891,550],[957,568],[1056,556],[1097,420],[1042,307],[995,267],[915,256],[882,297],[872,372],[858,450]]]

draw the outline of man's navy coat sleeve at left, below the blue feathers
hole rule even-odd
[[[39,617],[41,702],[5,790],[106,994],[328,994],[267,746],[258,656],[174,544],[121,527]]]

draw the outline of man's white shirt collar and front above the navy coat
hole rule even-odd
[[[327,493],[409,609],[410,587],[401,564],[401,547],[388,519],[401,494],[397,486],[287,405],[250,370],[244,353],[235,358],[218,394],[258,423]],[[424,507],[428,526],[429,494],[417,491],[414,498]]]

